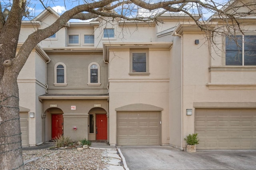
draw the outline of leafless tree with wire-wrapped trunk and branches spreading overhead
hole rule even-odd
[[[65,3],[72,3],[66,0]],[[63,28],[70,19],[88,20],[100,16],[136,20],[138,22],[161,22],[158,16],[164,12],[181,13],[190,16],[199,28],[206,31],[211,39],[214,34],[226,32],[241,32],[244,28],[241,19],[256,17],[255,0],[230,0],[226,2],[216,0],[166,0],[155,2],[152,0],[82,0],[80,5],[64,12],[56,22],[45,29],[38,29],[28,36],[20,47],[16,48],[22,19],[28,17],[28,6],[32,2],[26,0],[1,1],[0,4],[0,169],[24,169],[21,150],[21,131],[19,118],[19,91],[17,77],[24,66],[32,49],[42,40],[52,36]],[[48,4],[40,0],[46,8]],[[47,2],[56,2],[55,0]],[[74,0],[73,0],[74,2]],[[140,9],[146,9],[138,15]],[[246,10],[240,10],[240,9]],[[112,11],[112,12],[110,12]],[[114,11],[114,12],[113,12]],[[213,13],[211,20],[206,20],[204,14]],[[195,18],[199,14],[201,20]],[[211,27],[210,22],[221,21],[222,26]],[[255,31],[255,30],[253,30]],[[212,38],[213,40],[214,38]]]

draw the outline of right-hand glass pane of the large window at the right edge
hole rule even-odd
[[[244,36],[244,65],[256,65],[256,36]]]

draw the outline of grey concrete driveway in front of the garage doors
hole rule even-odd
[[[130,170],[256,170],[256,150],[197,150],[170,146],[118,146]]]

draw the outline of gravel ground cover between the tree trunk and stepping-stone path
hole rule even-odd
[[[100,149],[42,149],[22,151],[25,170],[108,170],[108,160]],[[38,159],[37,159],[38,158]]]

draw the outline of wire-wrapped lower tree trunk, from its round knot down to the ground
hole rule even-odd
[[[12,61],[4,62],[4,76],[0,84],[0,169],[22,170],[22,146],[19,115],[17,73]]]

